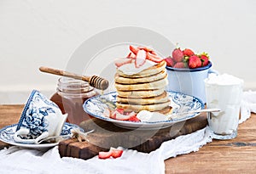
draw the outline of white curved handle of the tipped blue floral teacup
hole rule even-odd
[[[14,135],[14,140],[16,143],[26,143],[26,144],[32,144],[32,143],[37,143],[43,138],[47,138],[49,136],[49,132],[43,132],[38,138],[35,139],[22,139],[20,138],[20,135],[28,135],[29,134],[29,129],[27,128],[21,128],[19,131],[15,132]]]

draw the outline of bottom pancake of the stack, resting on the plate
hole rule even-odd
[[[121,104],[116,103],[117,108],[124,109],[127,112],[139,112],[141,110],[156,111],[168,107],[171,104],[171,100],[161,104]]]

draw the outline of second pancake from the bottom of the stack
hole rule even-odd
[[[152,98],[122,98],[117,96],[116,99],[116,101],[121,104],[160,104],[169,101],[169,95],[164,92]]]

